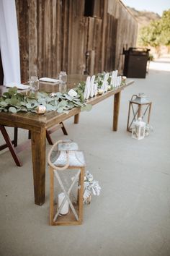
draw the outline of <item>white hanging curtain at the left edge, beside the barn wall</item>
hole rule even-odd
[[[0,49],[4,85],[21,82],[15,0],[0,0]]]

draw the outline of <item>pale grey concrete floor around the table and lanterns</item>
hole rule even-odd
[[[163,69],[163,70],[161,70]],[[151,64],[146,79],[122,91],[119,129],[112,132],[112,98],[65,122],[68,138],[86,155],[86,169],[102,187],[84,206],[81,226],[49,226],[49,174],[46,201],[34,204],[30,150],[0,155],[1,256],[169,256],[170,255],[170,59]],[[153,102],[153,132],[134,140],[126,132],[128,101],[146,93]],[[19,140],[27,133],[20,130]],[[58,130],[53,139],[65,138]],[[47,145],[47,153],[50,146]]]

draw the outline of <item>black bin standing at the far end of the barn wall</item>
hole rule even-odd
[[[146,78],[146,68],[149,58],[148,48],[129,48],[123,50],[125,54],[125,64],[123,74],[126,77]]]

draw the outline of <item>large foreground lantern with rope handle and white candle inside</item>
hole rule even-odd
[[[60,140],[51,148],[48,163],[50,165],[50,225],[81,224],[86,165],[84,153],[78,150],[78,145],[72,140]],[[54,178],[58,183],[56,188]]]

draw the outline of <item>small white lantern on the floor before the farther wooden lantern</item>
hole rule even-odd
[[[146,133],[146,123],[142,121],[141,117],[133,122],[132,137],[137,140],[142,140]]]

